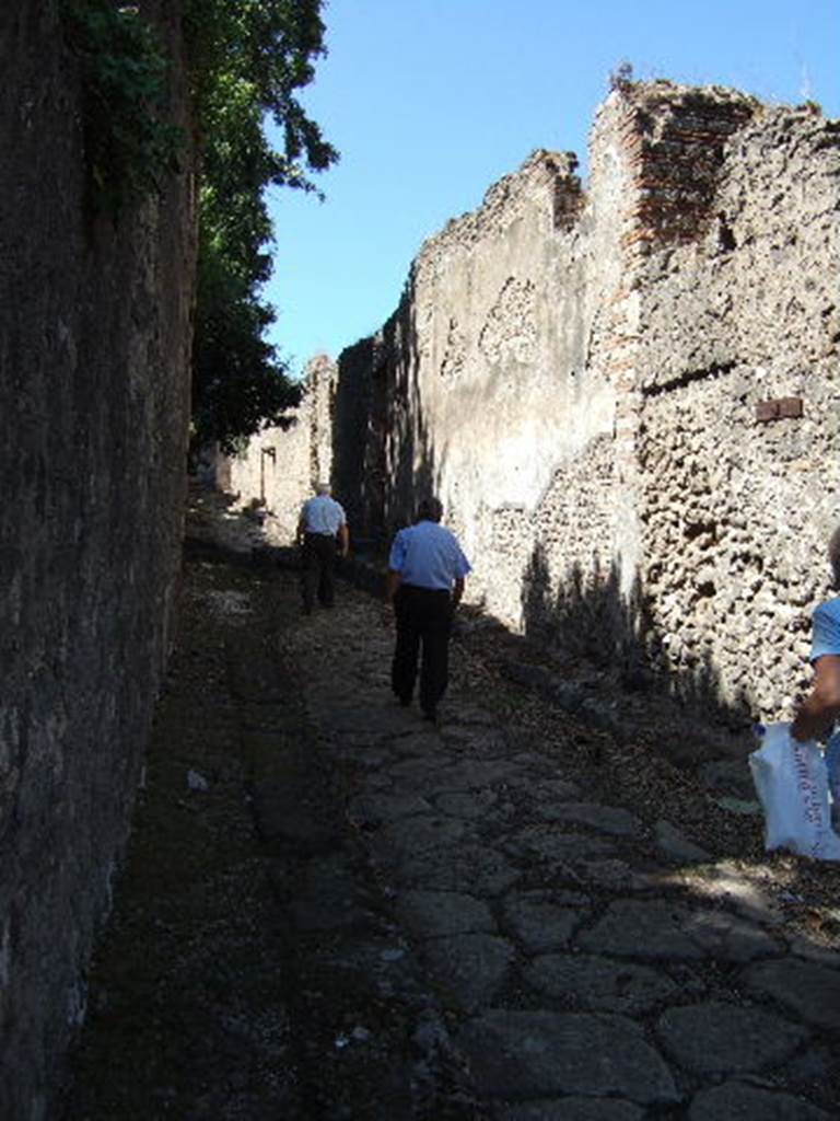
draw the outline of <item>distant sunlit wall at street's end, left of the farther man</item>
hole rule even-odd
[[[304,397],[289,410],[287,427],[270,427],[254,436],[245,451],[222,460],[216,481],[241,507],[264,508],[263,529],[274,545],[290,545],[300,504],[318,480],[333,473],[333,397],[336,372],[329,359],[314,359]]]

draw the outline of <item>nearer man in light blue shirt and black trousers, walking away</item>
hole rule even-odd
[[[396,618],[391,687],[401,704],[411,704],[420,659],[420,707],[431,721],[449,682],[452,614],[470,572],[457,537],[440,525],[442,515],[436,498],[419,504],[414,525],[394,537],[385,582],[385,610]]]

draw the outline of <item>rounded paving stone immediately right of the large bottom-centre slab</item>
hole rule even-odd
[[[670,1008],[656,1025],[668,1053],[696,1074],[757,1072],[783,1063],[808,1031],[773,1012],[708,1001]]]

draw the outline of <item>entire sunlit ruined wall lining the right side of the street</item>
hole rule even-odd
[[[783,713],[840,516],[840,126],[625,84],[575,165],[493,186],[321,369],[336,492],[375,540],[432,487],[487,611]]]

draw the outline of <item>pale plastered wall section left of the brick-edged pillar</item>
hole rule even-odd
[[[475,214],[423,247],[370,371],[345,372],[339,360],[339,395],[343,378],[356,404],[355,387],[368,400],[385,387],[379,421],[368,408],[367,428],[356,418],[338,434],[355,446],[368,491],[372,464],[389,481],[379,509],[361,495],[364,519],[388,530],[409,516],[418,488],[435,487],[474,560],[472,595],[516,624],[523,573],[541,548],[540,503],[556,473],[615,425],[607,334],[624,314],[624,170],[605,156],[585,201],[573,169],[573,158],[536,152],[494,186]],[[515,544],[498,537],[506,524],[517,527]],[[614,544],[581,550],[608,558]]]

